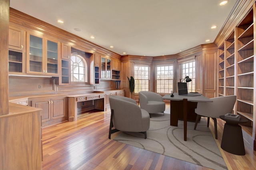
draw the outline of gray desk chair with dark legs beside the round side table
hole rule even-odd
[[[222,97],[215,97],[211,98],[213,102],[198,102],[197,108],[195,109],[196,116],[196,123],[194,126],[194,130],[196,130],[196,126],[198,121],[202,117],[207,118],[207,127],[209,127],[210,118],[214,121],[214,131],[215,131],[215,138],[217,137],[217,119],[220,118],[221,115],[225,115],[226,113],[232,113],[234,108],[234,104],[236,102],[236,96],[222,96]]]

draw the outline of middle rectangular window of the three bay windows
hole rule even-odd
[[[156,67],[156,93],[171,93],[173,90],[173,65]]]

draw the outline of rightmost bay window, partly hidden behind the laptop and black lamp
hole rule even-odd
[[[188,76],[192,81],[188,82],[188,92],[196,91],[196,62],[195,60],[181,64],[181,79]]]

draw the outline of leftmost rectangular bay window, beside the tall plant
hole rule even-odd
[[[139,93],[140,91],[149,91],[149,73],[149,66],[134,66],[134,93]]]

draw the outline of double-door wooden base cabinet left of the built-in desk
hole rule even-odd
[[[66,100],[66,96],[49,96],[31,99],[32,107],[42,109],[42,127],[60,123],[68,119]]]

